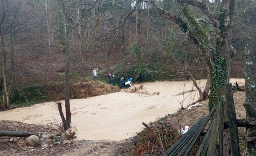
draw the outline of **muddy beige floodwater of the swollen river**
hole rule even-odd
[[[243,79],[231,79],[232,84],[244,83]],[[199,87],[204,87],[206,80],[198,80]],[[164,114],[172,114],[181,107],[196,101],[198,94],[189,92],[176,94],[193,88],[192,81],[162,81],[139,83],[149,93],[159,95],[117,92],[86,99],[71,99],[71,122],[77,128],[78,139],[86,140],[121,140],[129,138],[142,130],[142,122],[155,121]],[[195,87],[194,87],[195,89]],[[63,102],[64,104],[65,102]],[[180,104],[181,103],[181,104]],[[63,106],[63,109],[65,106]],[[63,110],[65,113],[65,110]],[[45,102],[31,107],[17,108],[0,112],[0,120],[13,120],[25,123],[50,123],[54,118],[61,120],[57,104]]]

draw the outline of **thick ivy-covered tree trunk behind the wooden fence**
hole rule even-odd
[[[223,0],[216,29],[216,51],[213,55],[209,110],[217,107],[223,94],[223,85],[229,82],[230,63],[235,49],[231,45],[231,34],[235,11],[235,0]]]

